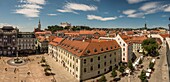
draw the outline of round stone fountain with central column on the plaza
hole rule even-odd
[[[9,65],[13,65],[13,66],[21,66],[21,65],[25,65],[27,62],[21,58],[18,57],[18,52],[16,54],[16,58],[12,58],[12,59],[9,59],[7,61],[7,63]]]

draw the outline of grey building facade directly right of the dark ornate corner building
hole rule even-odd
[[[33,54],[36,52],[36,38],[33,32],[19,32],[17,42],[19,54]]]

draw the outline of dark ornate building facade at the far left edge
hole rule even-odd
[[[17,28],[3,26],[0,28],[0,55],[15,56],[17,52]]]

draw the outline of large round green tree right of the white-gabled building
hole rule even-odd
[[[145,51],[147,51],[147,54],[150,56],[157,56],[159,55],[157,53],[158,44],[155,39],[149,38],[142,42],[142,47]]]

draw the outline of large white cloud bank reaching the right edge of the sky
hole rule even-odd
[[[154,14],[157,12],[170,12],[170,4],[163,4],[161,2],[148,2],[143,4],[136,10],[129,9],[122,13],[131,18],[145,18],[145,15]]]

